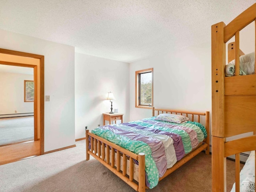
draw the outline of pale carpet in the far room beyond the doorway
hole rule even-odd
[[[34,140],[34,116],[0,118],[0,146]]]

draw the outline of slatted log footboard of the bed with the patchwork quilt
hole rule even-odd
[[[145,192],[147,187],[145,182],[144,153],[138,155],[134,154],[86,130],[86,160],[90,160],[90,155],[130,185],[134,190]],[[138,160],[138,180],[135,180],[133,175],[134,167],[136,166],[134,160]],[[120,166],[121,161],[122,166]],[[129,164],[128,171],[126,169],[127,164]]]

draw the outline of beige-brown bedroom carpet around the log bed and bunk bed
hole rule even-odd
[[[74,148],[2,165],[0,192],[134,192],[100,162],[85,158],[82,140]],[[227,191],[234,165],[227,160]],[[146,192],[211,192],[211,155],[201,152]]]

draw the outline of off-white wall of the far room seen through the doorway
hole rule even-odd
[[[0,72],[1,115],[14,114],[15,110],[17,111],[16,113],[34,112],[34,102],[24,102],[24,80],[33,79],[33,75]]]

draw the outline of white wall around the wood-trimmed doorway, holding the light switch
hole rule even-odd
[[[0,48],[44,55],[44,150],[74,145],[74,47],[0,30]]]

